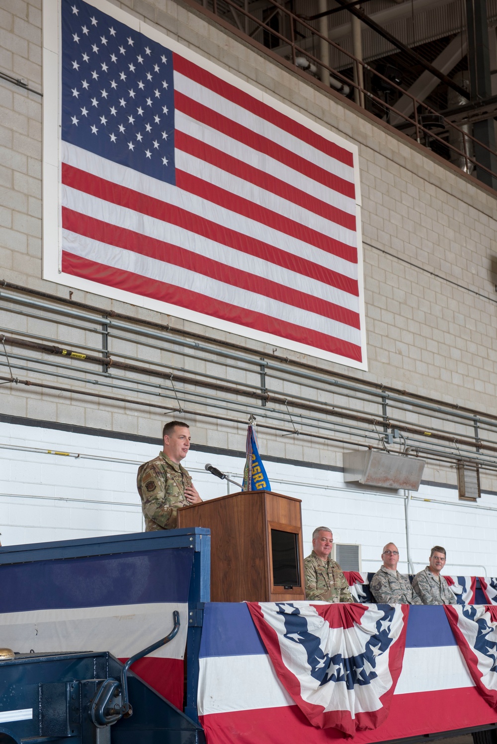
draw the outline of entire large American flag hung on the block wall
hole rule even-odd
[[[63,275],[364,366],[353,146],[98,6],[61,6]]]

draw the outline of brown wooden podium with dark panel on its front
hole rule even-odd
[[[178,527],[211,530],[211,601],[304,600],[301,500],[241,491],[178,510]]]

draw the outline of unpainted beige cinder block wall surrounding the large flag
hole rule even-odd
[[[353,374],[497,414],[495,196],[181,2],[134,0],[118,5],[359,146],[369,371]],[[38,92],[41,7],[41,0],[3,0],[0,8],[0,69],[25,78]],[[0,280],[68,297],[71,288],[42,280],[41,122],[42,98],[0,79]],[[164,320],[156,312],[89,293],[77,291],[73,298]],[[181,320],[168,320],[185,327]],[[17,322],[20,330],[43,333],[41,318],[19,317]],[[246,343],[220,331],[188,327]],[[61,338],[67,333],[60,328]],[[74,344],[79,340],[74,336]],[[261,355],[271,352],[264,344],[250,343]],[[301,359],[352,373],[341,365]],[[236,378],[228,368],[225,374],[226,379]],[[111,432],[155,437],[161,432],[160,414],[138,414],[131,407],[15,385],[0,386],[0,411]],[[242,427],[202,417],[190,420],[197,443],[243,449]],[[339,446],[311,444],[304,437],[283,439],[260,432],[260,448],[280,458],[341,464]],[[429,478],[455,483],[454,472],[441,466],[430,466]],[[487,487],[492,486],[489,478]]]

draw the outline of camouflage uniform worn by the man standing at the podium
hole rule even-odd
[[[138,468],[136,487],[145,517],[145,532],[176,527],[176,512],[179,507],[187,506],[185,488],[191,484],[190,473],[164,452]]]

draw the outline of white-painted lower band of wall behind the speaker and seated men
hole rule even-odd
[[[40,451],[16,449],[21,447]],[[141,442],[0,423],[2,545],[140,532],[136,470],[157,453],[158,447]],[[243,458],[190,450],[184,464],[202,498],[228,493],[226,481],[205,471],[209,462],[241,482]],[[362,546],[363,571],[376,571],[390,540],[400,549],[400,570],[407,571],[403,492],[359,490],[344,484],[341,472],[265,464],[272,490],[302,500],[305,554],[313,528],[327,525],[336,542]],[[453,488],[425,485],[412,496],[411,558],[417,571],[426,565],[432,545],[439,544],[447,551],[447,574],[497,575],[494,496],[466,504],[458,502]]]

